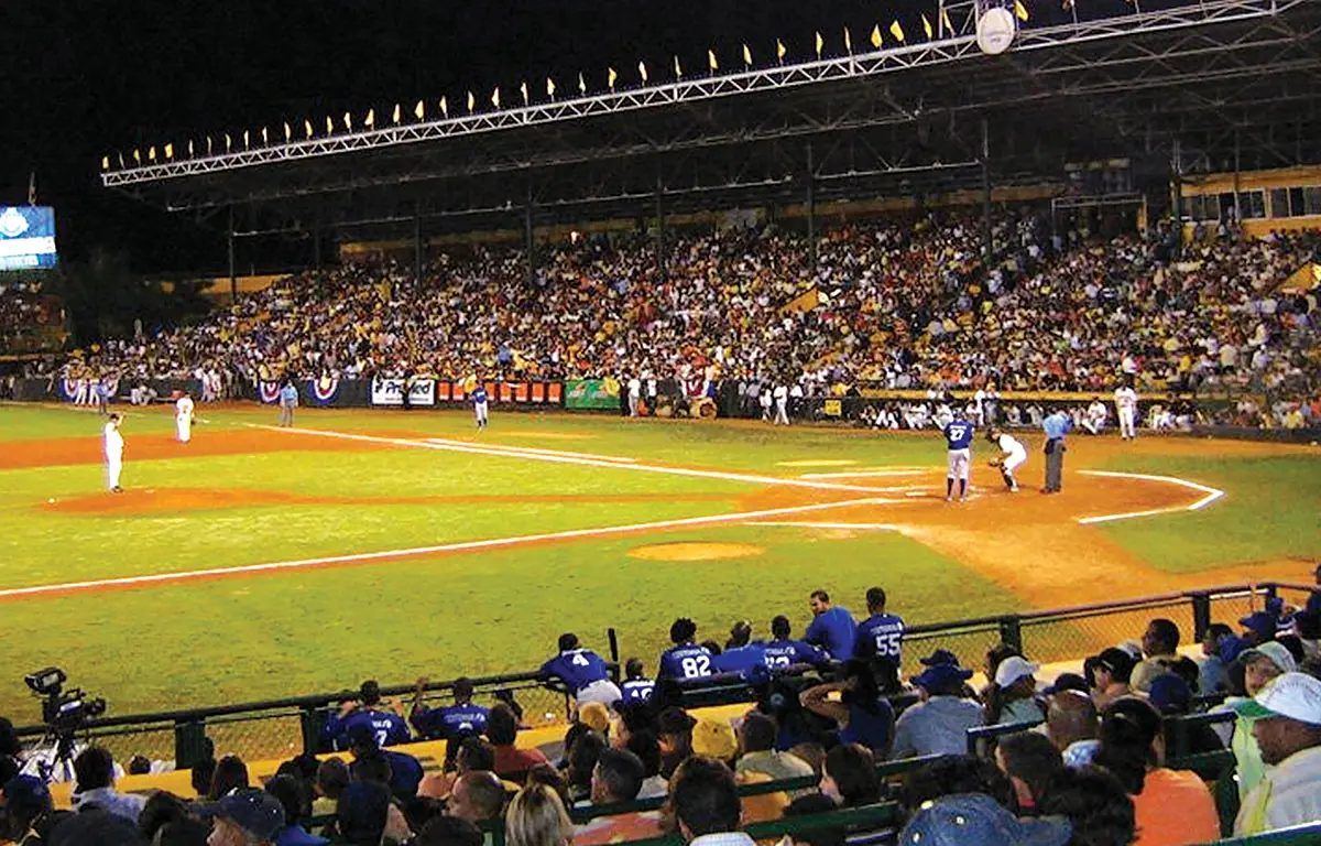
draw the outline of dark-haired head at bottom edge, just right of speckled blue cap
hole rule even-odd
[[[1042,793],[1037,813],[1069,820],[1069,846],[1129,846],[1137,839],[1133,801],[1119,779],[1099,767],[1058,773]]]

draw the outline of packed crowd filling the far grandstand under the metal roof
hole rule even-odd
[[[1269,390],[1316,399],[1317,288],[1277,286],[1314,234],[1166,241],[1050,235],[1030,209],[849,223],[811,245],[768,225],[446,252],[421,280],[384,259],[284,279],[209,320],[114,340],[65,374],[275,381],[378,373],[518,379],[704,374],[797,386],[1140,393]]]

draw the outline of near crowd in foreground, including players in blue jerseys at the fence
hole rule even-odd
[[[1321,568],[1317,576],[1321,586]],[[575,719],[563,742],[539,748],[519,743],[515,701],[476,705],[466,679],[439,707],[419,679],[411,709],[366,682],[325,724],[326,743],[343,755],[301,755],[259,784],[239,757],[215,760],[213,751],[192,769],[192,801],[118,792],[110,752],[87,747],[73,765],[73,810],[55,812],[0,720],[0,837],[481,846],[502,821],[510,846],[662,834],[750,846],[749,824],[893,802],[906,820],[898,841],[913,846],[1176,846],[1217,839],[1226,806],[1238,808],[1236,834],[1321,820],[1321,587],[1303,608],[1272,600],[1239,632],[1211,625],[1199,660],[1180,649],[1178,627],[1164,619],[1140,642],[1104,649],[1049,686],[1038,683],[1040,665],[999,645],[985,656],[980,690],[972,669],[945,649],[901,682],[904,621],[882,590],[865,599],[869,616],[859,623],[814,592],[802,638],[777,617],[768,640],[753,640],[740,621],[724,645],[697,642],[692,621],[676,620],[655,679],[633,658],[616,683],[596,653],[563,634],[539,678],[575,699]],[[676,705],[676,689],[731,675],[761,694],[737,719]],[[1197,709],[1225,719],[1170,720]],[[968,730],[982,726],[1007,728],[968,755]],[[412,739],[445,740],[444,767],[424,769],[410,753]],[[1168,767],[1176,750],[1225,748],[1236,764],[1230,796],[1217,798],[1197,773]],[[901,783],[877,772],[886,759],[923,756],[934,757]],[[149,769],[143,759],[129,763],[129,772]],[[770,787],[745,789],[758,784]],[[621,805],[647,798],[663,802]],[[848,833],[827,825],[781,842],[841,846]]]

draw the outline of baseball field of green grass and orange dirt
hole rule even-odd
[[[258,428],[273,422],[264,408],[201,416],[185,447],[165,410],[131,414],[129,490],[116,497],[95,414],[0,407],[0,594],[58,588],[0,599],[0,714],[34,722],[21,677],[49,664],[129,714],[531,669],[563,631],[604,652],[614,627],[654,666],[675,616],[717,640],[737,619],[802,627],[818,587],[861,612],[867,587],[884,584],[894,611],[926,623],[1303,579],[1293,562],[1321,557],[1321,452],[1297,447],[1075,442],[1070,471],[1226,492],[1198,512],[1081,526],[1197,494],[1070,475],[1062,497],[1009,497],[982,469],[978,497],[946,506],[933,435],[498,412],[478,434],[460,412],[300,412],[300,428],[367,438],[350,440]],[[865,475],[802,479],[820,473]],[[593,531],[666,521],[690,522]],[[816,525],[754,525],[768,522]],[[877,525],[896,530],[853,527]],[[567,531],[584,534],[519,539]],[[402,553],[478,541],[493,543]],[[674,543],[705,558],[672,560],[676,547],[658,545]],[[395,554],[361,558],[379,553]],[[326,557],[358,558],[313,560]],[[276,562],[304,563],[251,570]],[[157,580],[99,583],[133,576]]]

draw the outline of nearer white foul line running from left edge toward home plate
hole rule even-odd
[[[461,541],[457,543],[440,543],[436,546],[416,546],[403,550],[386,550],[380,553],[358,553],[354,555],[330,555],[325,558],[304,558],[299,560],[279,560],[266,564],[243,564],[239,567],[214,567],[211,570],[188,570],[182,572],[156,572],[141,576],[122,576],[116,579],[95,579],[89,582],[65,582],[62,584],[37,584],[32,587],[16,587],[0,591],[0,600],[18,599],[25,596],[40,596],[44,594],[81,594],[86,591],[104,591],[108,588],[135,587],[143,584],[168,584],[174,582],[193,582],[199,579],[215,579],[222,576],[246,575],[254,572],[273,572],[284,570],[301,570],[308,567],[324,567],[326,564],[347,564],[355,562],[380,560],[387,558],[411,558],[416,555],[437,555],[443,553],[468,553],[473,550],[489,550],[501,547],[527,546],[532,543],[547,543],[555,541],[571,541],[579,538],[600,538],[616,534],[637,534],[643,531],[658,531],[664,529],[682,529],[687,526],[711,526],[720,523],[737,523],[764,517],[779,517],[785,514],[806,514],[834,508],[848,508],[855,505],[882,505],[890,500],[860,498],[845,500],[843,502],[819,502],[815,505],[794,505],[787,508],[773,508],[760,512],[737,512],[733,514],[713,514],[709,517],[680,517],[676,519],[662,519],[650,523],[626,523],[622,526],[602,526],[598,529],[568,529],[565,531],[552,531],[547,534],[524,534],[510,538],[491,538],[486,541]]]

